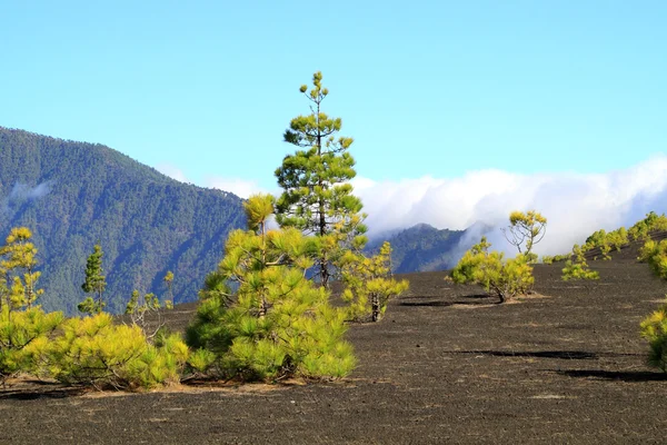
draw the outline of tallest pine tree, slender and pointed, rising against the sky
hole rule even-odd
[[[318,276],[326,287],[331,265],[340,257],[341,245],[360,249],[366,244],[361,200],[352,195],[349,181],[356,176],[355,159],[348,152],[352,138],[337,136],[342,121],[321,110],[329,90],[322,75],[312,76],[312,89],[300,91],[311,102],[310,115],[293,118],[285,131],[286,142],[299,147],[276,170],[283,189],[276,206],[281,227],[295,227],[322,238]],[[325,239],[328,238],[328,239]]]

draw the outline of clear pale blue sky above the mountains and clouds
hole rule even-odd
[[[316,70],[376,180],[601,172],[667,148],[665,1],[8,0],[0,14],[0,126],[200,185],[273,187]]]

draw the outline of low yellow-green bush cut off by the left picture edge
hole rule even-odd
[[[17,373],[39,374],[40,357],[49,346],[49,336],[62,323],[62,313],[44,312],[39,306],[26,310],[0,312],[0,378]]]

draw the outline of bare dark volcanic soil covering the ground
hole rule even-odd
[[[635,256],[591,263],[597,283],[537,266],[539,295],[506,305],[444,273],[408,275],[409,294],[385,320],[351,327],[359,366],[344,382],[9,387],[0,443],[665,443],[667,379],[645,365],[638,325],[667,284]]]

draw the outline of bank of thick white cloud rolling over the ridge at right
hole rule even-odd
[[[567,251],[599,228],[633,225],[650,210],[667,211],[667,155],[608,174],[479,170],[454,179],[356,178],[352,184],[369,214],[371,236],[419,222],[449,229],[476,221],[502,227],[511,210],[537,209],[548,219],[547,236],[536,246],[544,255]],[[501,236],[491,239],[500,243]]]

